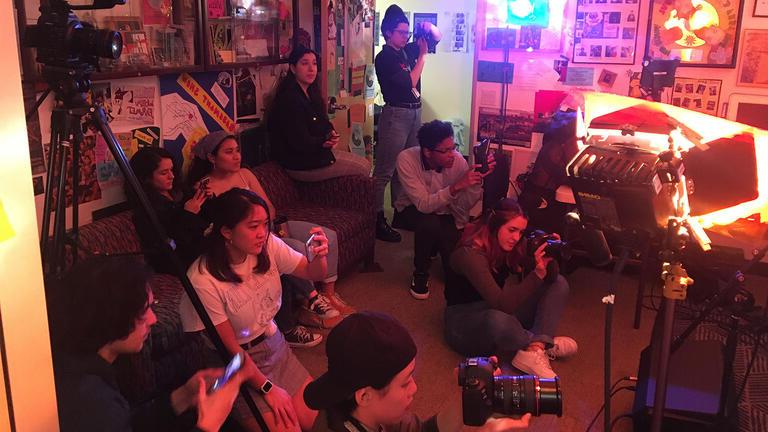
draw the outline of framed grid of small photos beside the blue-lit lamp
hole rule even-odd
[[[573,63],[634,64],[640,0],[577,0]]]

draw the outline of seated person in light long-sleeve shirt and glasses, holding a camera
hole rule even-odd
[[[403,190],[395,201],[393,223],[414,231],[413,278],[410,293],[418,300],[429,298],[429,266],[434,251],[440,252],[443,269],[456,246],[469,211],[483,196],[483,178],[496,162],[489,156],[488,171],[470,167],[456,151],[453,127],[433,120],[418,132],[419,146],[397,157],[397,173]]]

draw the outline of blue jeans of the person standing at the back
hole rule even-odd
[[[402,187],[397,179],[395,166],[397,155],[403,149],[419,145],[416,132],[421,127],[421,108],[398,108],[384,105],[379,117],[379,141],[376,143],[376,160],[373,165],[374,205],[376,211],[384,210],[384,190],[392,181],[390,189],[392,204]]]

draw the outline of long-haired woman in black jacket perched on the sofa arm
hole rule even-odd
[[[371,174],[368,159],[337,150],[339,134],[325,110],[317,82],[319,56],[297,45],[278,84],[267,125],[273,157],[299,181]]]

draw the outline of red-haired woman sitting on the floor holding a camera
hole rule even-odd
[[[573,339],[554,336],[569,287],[546,252],[549,242],[527,250],[527,225],[518,203],[505,198],[464,230],[445,284],[445,338],[462,355],[498,355],[525,373],[553,378],[550,358],[578,349]],[[531,255],[533,271],[505,286]]]

